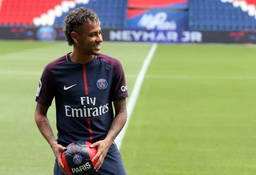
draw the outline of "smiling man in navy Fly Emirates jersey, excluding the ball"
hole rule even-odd
[[[92,161],[99,160],[93,174],[125,175],[114,142],[127,118],[128,93],[122,65],[100,54],[100,21],[92,10],[80,7],[69,12],[63,33],[68,44],[73,45],[73,52],[46,65],[36,94],[35,121],[56,157],[54,175],[67,174],[60,155],[75,140],[89,141],[97,147]],[[47,119],[54,97],[57,140]]]

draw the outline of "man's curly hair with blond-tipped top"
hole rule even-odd
[[[85,7],[79,7],[68,12],[63,21],[62,29],[68,45],[72,46],[74,44],[71,32],[79,33],[79,27],[86,24],[91,26],[100,25],[100,20],[96,12]]]

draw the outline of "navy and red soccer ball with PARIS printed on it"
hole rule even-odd
[[[97,154],[95,147],[90,148],[91,143],[87,141],[74,141],[61,153],[61,161],[68,175],[89,175],[94,172],[94,165],[98,159],[92,162]]]

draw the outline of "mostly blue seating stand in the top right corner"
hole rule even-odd
[[[256,0],[190,0],[192,30],[252,31],[256,29]]]

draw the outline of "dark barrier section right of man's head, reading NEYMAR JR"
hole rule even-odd
[[[156,43],[256,43],[256,32],[109,30],[109,41]]]

